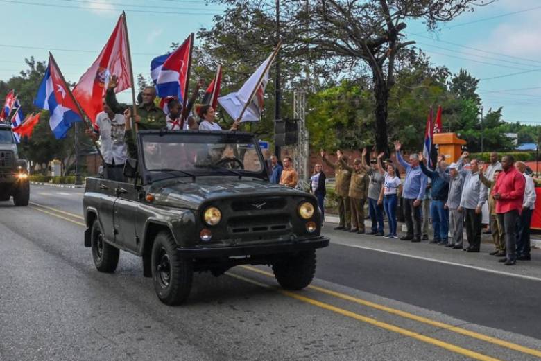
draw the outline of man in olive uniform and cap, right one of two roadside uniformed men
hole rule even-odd
[[[357,158],[353,162],[353,167],[348,166],[344,159],[340,159],[342,166],[351,172],[350,191],[347,194],[350,197],[351,204],[351,223],[352,232],[364,233],[364,202],[368,197],[368,186],[370,178],[366,169],[362,166],[362,161]]]

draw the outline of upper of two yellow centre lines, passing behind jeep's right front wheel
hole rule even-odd
[[[242,266],[242,267],[244,269],[246,269],[246,270],[256,272],[256,273],[259,273],[259,274],[264,274],[265,276],[269,276],[269,277],[274,278],[274,274],[272,274],[270,272],[265,272],[263,270],[259,270],[258,268],[250,267],[250,266]],[[460,328],[460,327],[457,327],[457,326],[453,326],[451,324],[445,324],[443,322],[434,321],[433,319],[429,319],[427,317],[413,315],[413,314],[411,314],[409,312],[404,312],[404,311],[401,311],[401,310],[397,310],[395,308],[390,308],[390,307],[387,307],[387,306],[380,305],[378,303],[366,301],[364,299],[359,299],[357,297],[352,297],[352,296],[350,296],[348,294],[343,294],[341,292],[327,290],[326,288],[321,288],[321,287],[318,287],[318,286],[315,286],[315,285],[309,285],[308,288],[311,289],[311,290],[316,290],[316,291],[324,293],[324,294],[328,294],[329,296],[333,296],[333,297],[337,297],[339,299],[344,299],[346,301],[351,301],[351,302],[354,302],[354,303],[358,303],[358,304],[360,304],[362,306],[375,308],[377,310],[388,312],[390,314],[397,315],[397,316],[400,316],[400,317],[404,317],[404,318],[407,318],[407,319],[413,319],[414,321],[422,322],[423,324],[429,324],[429,325],[434,326],[434,327],[444,328],[447,331],[452,331],[454,333],[460,333],[461,335],[476,338],[477,340],[490,342],[491,344],[497,344],[498,346],[505,347],[507,349],[511,349],[511,350],[514,350],[514,351],[519,351],[519,352],[522,352],[522,353],[527,353],[529,355],[533,355],[533,356],[537,356],[538,358],[541,358],[541,351],[540,350],[530,349],[529,347],[520,346],[519,344],[513,344],[512,342],[499,340],[499,339],[497,339],[495,337],[490,337],[490,336],[487,336],[487,335],[483,335],[482,333],[476,333],[474,331],[466,330],[465,328]]]

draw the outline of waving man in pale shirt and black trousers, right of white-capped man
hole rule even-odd
[[[461,204],[457,210],[465,215],[467,243],[470,245],[465,250],[467,252],[479,252],[481,247],[481,220],[483,218],[482,208],[487,200],[488,193],[486,186],[479,179],[479,162],[477,159],[470,161],[470,170],[462,168],[463,159],[468,155],[468,152],[464,152],[457,162],[458,172],[464,177]]]

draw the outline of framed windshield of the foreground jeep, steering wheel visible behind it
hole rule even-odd
[[[246,133],[154,132],[141,134],[139,144],[150,181],[200,175],[266,175],[259,144]]]

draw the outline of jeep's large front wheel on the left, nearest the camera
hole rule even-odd
[[[157,234],[152,246],[152,279],[160,301],[169,306],[186,301],[193,276],[191,261],[178,256],[173,236],[167,231]]]

